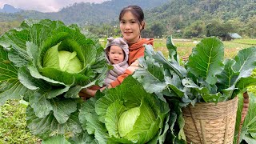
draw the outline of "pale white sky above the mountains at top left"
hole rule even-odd
[[[0,8],[5,4],[21,8],[23,10],[38,10],[41,12],[57,12],[62,7],[71,6],[74,2],[101,3],[109,0],[0,0]]]

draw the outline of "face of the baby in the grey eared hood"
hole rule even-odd
[[[125,54],[121,47],[110,46],[110,52],[108,53],[111,64],[118,64],[125,58]]]

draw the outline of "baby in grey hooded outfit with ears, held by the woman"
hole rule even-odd
[[[113,69],[108,71],[104,82],[105,86],[109,86],[129,66],[127,63],[129,46],[123,38],[107,38],[105,54],[106,61],[113,66]]]

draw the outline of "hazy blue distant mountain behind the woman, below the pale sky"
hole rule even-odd
[[[60,20],[66,24],[76,23],[79,26],[88,24],[110,23],[118,20],[118,14],[123,7],[128,5],[141,6],[148,10],[162,6],[168,0],[111,0],[102,3],[80,2],[66,6],[54,13],[42,13],[35,10],[22,10],[16,14],[23,18]]]

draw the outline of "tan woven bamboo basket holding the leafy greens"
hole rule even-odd
[[[233,143],[238,97],[226,102],[196,103],[182,109],[186,141],[193,144]]]

